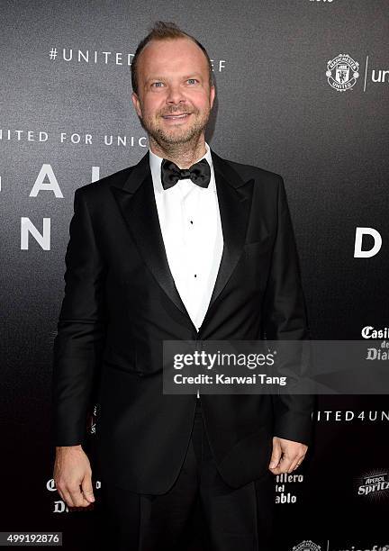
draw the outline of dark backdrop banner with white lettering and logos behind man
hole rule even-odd
[[[75,190],[148,148],[131,104],[139,41],[163,20],[204,44],[216,82],[206,140],[284,177],[312,339],[368,346],[389,339],[389,5],[3,0],[1,11],[0,531],[59,530],[66,549],[95,548],[98,507],[68,510],[52,480],[51,355]],[[276,477],[277,549],[389,548],[388,434],[387,395],[318,397],[309,456]]]

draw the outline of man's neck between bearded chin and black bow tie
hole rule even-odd
[[[159,144],[149,136],[149,149],[158,157],[167,158],[176,163],[179,168],[191,167],[199,158],[204,157],[206,153],[204,135],[196,139],[195,142],[186,143]]]

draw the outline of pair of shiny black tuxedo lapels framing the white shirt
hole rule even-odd
[[[242,252],[249,222],[249,209],[254,180],[245,182],[231,166],[213,151],[213,168],[216,182],[223,234],[223,251],[213,294],[202,327],[211,306],[227,284]],[[131,231],[131,237],[139,248],[149,270],[176,307],[193,321],[186,311],[167,262],[167,255],[159,225],[155,202],[149,151],[133,167],[124,184],[111,185],[122,216]]]

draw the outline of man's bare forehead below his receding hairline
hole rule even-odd
[[[139,69],[144,77],[149,77],[152,73],[158,75],[187,71],[207,73],[208,62],[203,50],[190,39],[152,40],[140,53]]]

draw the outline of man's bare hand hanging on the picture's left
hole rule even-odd
[[[80,444],[56,447],[53,478],[68,507],[88,507],[95,501],[92,469]]]

